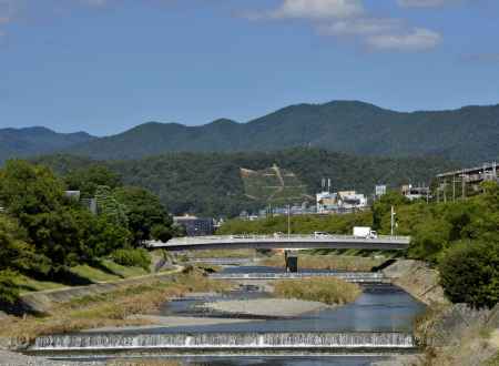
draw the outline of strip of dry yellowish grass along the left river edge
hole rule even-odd
[[[103,326],[141,325],[144,321],[129,319],[131,315],[152,313],[165,301],[190,292],[222,292],[224,282],[210,281],[194,271],[169,281],[151,279],[150,284],[125,285],[106,294],[83,296],[57,306],[50,315],[0,321],[0,337],[18,343],[31,342],[39,335],[78,332]]]

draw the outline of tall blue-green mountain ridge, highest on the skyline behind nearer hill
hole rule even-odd
[[[296,146],[357,155],[439,155],[462,164],[490,161],[499,157],[499,105],[400,113],[363,102],[297,104],[247,123],[145,123],[68,151],[108,160],[165,152],[275,151]]]

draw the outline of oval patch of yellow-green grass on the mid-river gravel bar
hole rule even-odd
[[[352,303],[360,293],[360,286],[357,284],[332,277],[285,279],[276,282],[274,286],[274,294],[278,297],[314,301],[328,305]]]

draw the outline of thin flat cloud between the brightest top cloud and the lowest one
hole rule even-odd
[[[317,27],[324,35],[370,35],[393,32],[403,28],[403,21],[389,18],[359,18],[340,20],[332,24],[320,24]]]

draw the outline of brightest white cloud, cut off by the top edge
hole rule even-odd
[[[246,13],[258,19],[342,19],[364,13],[361,0],[284,0],[277,9]]]

